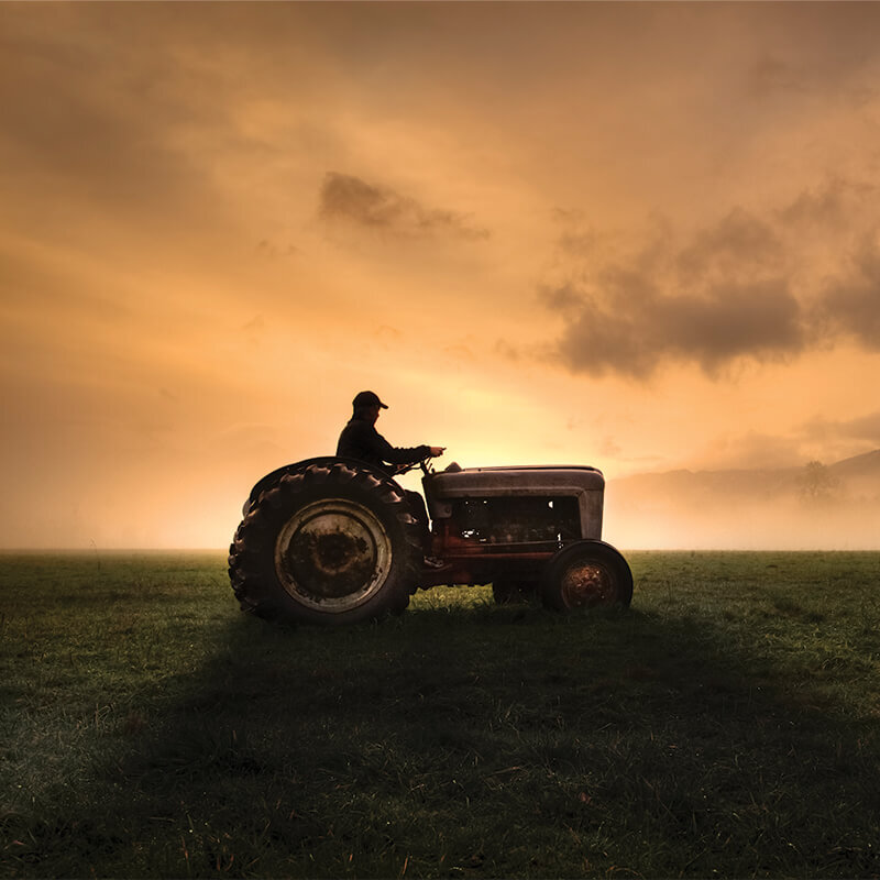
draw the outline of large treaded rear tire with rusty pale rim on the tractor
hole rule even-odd
[[[405,610],[420,559],[400,487],[331,460],[261,491],[230,547],[229,576],[242,609],[260,617],[355,624]]]

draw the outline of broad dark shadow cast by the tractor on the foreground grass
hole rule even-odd
[[[477,604],[213,637],[101,769],[103,810],[180,840],[174,876],[880,872],[876,728],[704,619]]]

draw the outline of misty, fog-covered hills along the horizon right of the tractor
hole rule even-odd
[[[880,549],[880,450],[833,464],[609,480],[607,541],[640,549]]]

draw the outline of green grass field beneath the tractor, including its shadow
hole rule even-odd
[[[6,877],[878,877],[880,554],[631,553],[627,613],[239,613],[4,554]]]

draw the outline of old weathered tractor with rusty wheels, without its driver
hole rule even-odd
[[[355,624],[400,614],[419,588],[490,583],[499,604],[629,605],[629,565],[602,540],[597,469],[435,471],[425,460],[395,476],[416,466],[429,536],[397,481],[363,462],[308,459],[264,476],[230,547],[242,609],[286,624]]]

